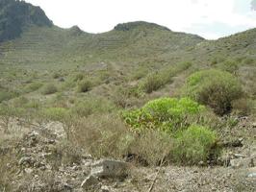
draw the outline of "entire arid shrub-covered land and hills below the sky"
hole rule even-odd
[[[256,29],[62,29],[0,1],[0,191],[256,191]]]

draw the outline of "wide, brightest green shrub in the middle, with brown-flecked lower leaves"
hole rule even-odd
[[[197,121],[203,109],[189,98],[161,98],[140,109],[124,111],[122,116],[137,131],[154,129],[172,133]]]

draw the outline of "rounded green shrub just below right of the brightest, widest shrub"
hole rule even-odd
[[[174,161],[183,164],[205,162],[212,155],[216,142],[215,132],[193,125],[177,135],[171,156]]]

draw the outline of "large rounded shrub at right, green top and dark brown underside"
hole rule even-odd
[[[232,101],[242,94],[242,86],[236,77],[214,69],[192,74],[182,88],[183,96],[213,108],[219,115],[230,112]]]

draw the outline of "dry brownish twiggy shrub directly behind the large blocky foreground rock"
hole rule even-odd
[[[119,138],[128,130],[113,115],[91,115],[73,123],[73,141],[84,147],[89,154],[102,157],[120,157],[117,146]]]

